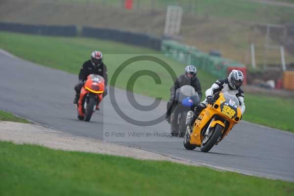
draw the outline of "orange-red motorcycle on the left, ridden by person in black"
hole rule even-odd
[[[96,74],[90,74],[81,89],[76,108],[79,120],[90,121],[92,114],[99,110],[99,103],[103,99],[104,78]]]

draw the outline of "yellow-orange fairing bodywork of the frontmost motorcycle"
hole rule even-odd
[[[225,129],[225,124],[221,120],[214,120],[212,119],[215,115],[221,116],[223,119],[229,122],[228,127]],[[236,118],[239,118],[239,120],[236,120]],[[237,118],[237,119],[238,119]],[[225,103],[225,99],[220,93],[219,99],[215,102],[214,105],[208,105],[207,108],[205,108],[197,117],[197,119],[194,122],[193,130],[191,133],[191,144],[196,144],[197,146],[200,146],[204,136],[201,134],[202,131],[209,123],[208,127],[215,127],[217,124],[221,125],[223,127],[221,133],[222,138],[221,140],[230,132],[230,130],[233,128],[235,124],[240,122],[241,120],[241,109],[240,107],[234,109],[231,106],[229,106],[227,103]],[[223,133],[225,131],[225,133]],[[221,141],[220,140],[220,141]]]

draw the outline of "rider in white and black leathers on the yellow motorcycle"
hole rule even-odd
[[[194,124],[194,121],[200,112],[202,112],[207,107],[207,104],[215,103],[216,100],[213,98],[213,95],[217,92],[229,91],[230,93],[236,94],[240,102],[241,112],[243,114],[245,112],[244,91],[240,88],[243,81],[243,73],[239,70],[232,70],[227,78],[219,79],[214,84],[212,84],[212,86],[205,91],[206,99],[196,106],[194,115],[190,121],[190,125],[192,126]]]

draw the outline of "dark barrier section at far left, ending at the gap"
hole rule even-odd
[[[77,28],[75,26],[0,23],[0,30],[51,36],[77,36]]]

